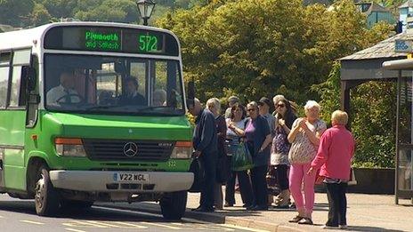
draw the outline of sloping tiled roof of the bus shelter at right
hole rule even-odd
[[[406,57],[407,53],[394,52],[395,40],[397,39],[413,40],[413,32],[408,30],[401,34],[397,34],[372,47],[361,50],[360,52],[355,52],[354,54],[341,58],[340,60],[365,60]]]

